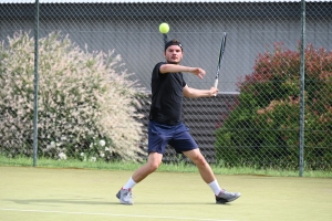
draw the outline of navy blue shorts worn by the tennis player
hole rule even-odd
[[[189,128],[183,123],[169,126],[151,120],[148,123],[148,154],[163,155],[167,145],[170,145],[178,154],[198,148],[189,134]]]

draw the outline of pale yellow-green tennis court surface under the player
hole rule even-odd
[[[197,173],[156,172],[134,189],[134,206],[115,193],[132,172],[0,167],[0,220],[332,220],[332,179],[217,176],[240,191],[215,204]]]

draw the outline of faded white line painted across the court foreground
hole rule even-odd
[[[156,217],[144,214],[113,214],[103,212],[66,212],[56,210],[19,210],[10,208],[0,208],[2,211],[14,212],[35,212],[35,213],[61,213],[61,214],[86,214],[86,215],[106,215],[106,217],[124,217],[124,218],[147,218],[147,219],[168,219],[168,220],[198,220],[198,221],[231,221],[231,220],[216,220],[216,219],[199,219],[199,218],[185,218],[185,217]]]

